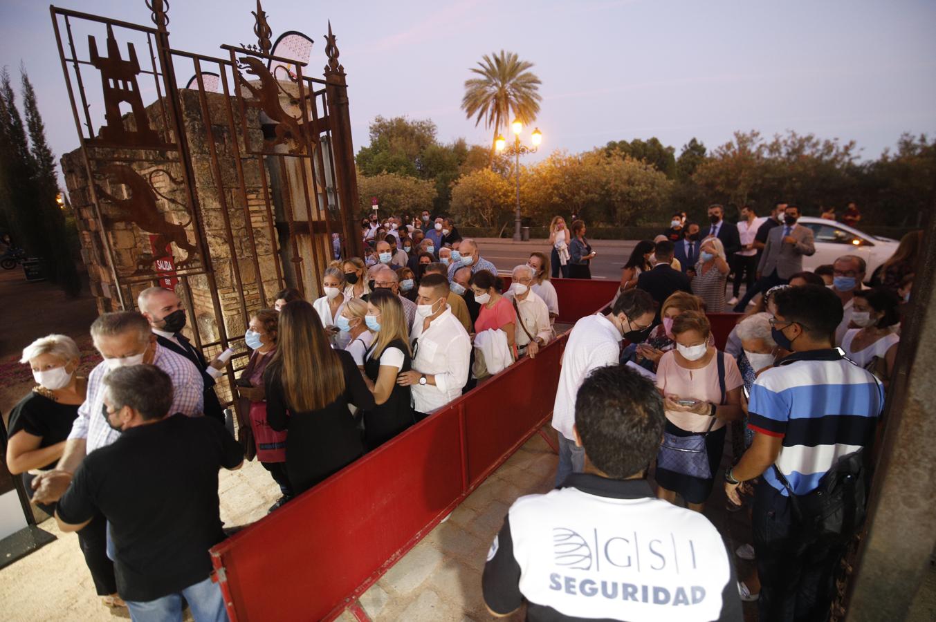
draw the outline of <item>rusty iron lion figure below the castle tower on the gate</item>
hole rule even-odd
[[[95,193],[97,196],[107,200],[120,214],[116,218],[110,217],[107,214],[102,214],[101,219],[104,221],[104,224],[136,224],[140,230],[159,236],[155,244],[157,248],[163,248],[170,242],[175,244],[186,253],[185,258],[178,263],[179,268],[184,268],[195,260],[198,249],[194,244],[189,243],[188,236],[185,234],[185,227],[188,226],[192,220],[191,213],[189,213],[189,221],[185,224],[169,223],[156,207],[156,195],[162,196],[169,202],[182,207],[187,212],[188,210],[181,202],[169,198],[155,190],[154,187],[144,180],[131,166],[109,164],[102,166],[99,172],[105,177],[110,176],[113,183],[123,184],[130,191],[126,198],[117,198],[95,182]],[[159,172],[165,173],[173,183],[180,183],[173,179],[165,169],[157,169],[151,172],[151,182],[154,174]]]

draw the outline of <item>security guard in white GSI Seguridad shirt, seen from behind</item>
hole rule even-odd
[[[592,371],[576,398],[585,472],[521,497],[494,538],[484,600],[528,620],[741,620],[722,537],[702,514],[656,499],[644,479],[663,437],[663,400],[620,366]]]

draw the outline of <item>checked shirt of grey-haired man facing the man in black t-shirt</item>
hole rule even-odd
[[[190,417],[200,415],[204,410],[204,383],[192,362],[157,343],[153,364],[165,371],[172,381],[172,410],[169,412],[182,412]],[[107,373],[106,361],[98,363],[97,367],[91,370],[91,376],[88,377],[88,393],[78,409],[78,418],[75,419],[68,435],[68,439],[87,440],[85,454],[110,445],[120,438],[120,432],[110,427],[107,419],[101,414],[104,405],[101,381]]]

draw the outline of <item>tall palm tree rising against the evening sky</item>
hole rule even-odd
[[[512,116],[524,125],[536,119],[539,102],[543,99],[538,93],[542,83],[531,71],[529,61],[521,61],[512,51],[500,54],[485,54],[482,62],[472,67],[471,71],[480,76],[465,80],[465,96],[461,99],[461,108],[468,119],[475,117],[475,127],[481,121],[488,129],[493,127],[490,140],[490,162],[494,162],[494,140],[499,130],[505,130],[511,123]]]

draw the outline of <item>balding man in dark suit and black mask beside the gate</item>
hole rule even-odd
[[[205,415],[225,423],[224,409],[214,392],[214,376],[208,371],[210,365],[204,354],[182,334],[185,326],[182,300],[172,290],[149,287],[139,293],[137,306],[153,328],[156,342],[176,354],[182,354],[201,372],[201,379],[205,383]]]

